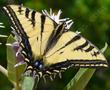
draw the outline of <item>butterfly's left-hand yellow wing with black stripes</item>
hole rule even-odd
[[[30,43],[33,56],[37,58],[43,55],[49,42],[48,38],[50,38],[54,30],[53,21],[45,15],[25,7],[22,7],[21,10],[17,5],[9,5],[7,7],[11,8],[15,13],[15,17],[19,20],[19,24],[22,25]],[[7,7],[4,7],[5,10],[7,10]],[[10,18],[13,19],[11,16]],[[16,21],[14,21],[13,19],[12,22],[15,23]],[[19,32],[19,29],[17,31]]]

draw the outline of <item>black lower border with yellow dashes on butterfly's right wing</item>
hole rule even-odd
[[[56,64],[51,65],[49,68],[47,67],[46,70],[47,71],[52,71],[52,70],[59,70],[61,68],[68,68],[69,66],[78,66],[78,67],[97,67],[97,65],[107,65],[106,61],[102,61],[102,60],[67,60],[64,62],[59,62]],[[83,65],[83,66],[81,66]],[[102,65],[102,67],[103,67]],[[101,66],[100,66],[101,67]]]

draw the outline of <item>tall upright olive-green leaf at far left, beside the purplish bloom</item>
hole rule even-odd
[[[15,57],[15,52],[12,49],[11,44],[9,43],[13,43],[15,40],[13,39],[12,36],[9,36],[7,43],[7,70],[8,70],[8,78],[9,80],[16,82],[16,70],[14,68],[15,64],[16,64],[16,57]],[[10,45],[10,46],[9,46]]]

